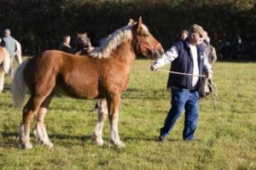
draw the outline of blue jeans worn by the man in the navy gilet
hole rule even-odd
[[[164,127],[160,128],[160,135],[168,136],[177,118],[185,109],[185,120],[183,128],[183,139],[193,140],[198,120],[198,91],[172,88],[172,108],[166,116]]]

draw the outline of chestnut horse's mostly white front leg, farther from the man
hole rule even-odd
[[[104,122],[108,116],[108,105],[106,99],[101,99],[97,103],[98,108],[96,108],[96,111],[98,113],[97,116],[97,122],[95,131],[92,134],[92,139],[96,145],[102,146],[104,144],[104,141],[102,139],[102,131]]]

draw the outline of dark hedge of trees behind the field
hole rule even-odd
[[[196,23],[220,49],[225,43],[235,44],[237,36],[255,34],[255,4],[252,0],[3,0],[0,29],[11,29],[24,54],[38,54],[57,48],[63,35],[74,38],[84,31],[98,46],[102,37],[141,15],[164,48],[177,41],[181,30]],[[222,57],[236,57],[227,55]]]

